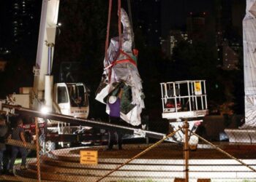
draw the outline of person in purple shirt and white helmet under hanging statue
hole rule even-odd
[[[120,107],[121,107],[121,95],[123,94],[123,88],[120,88],[118,96],[110,95],[108,98],[108,106],[110,108],[109,121],[113,124],[119,124],[120,122]],[[122,149],[122,133],[115,130],[109,130],[108,132],[108,149],[113,149],[113,144],[117,141],[118,149]]]

